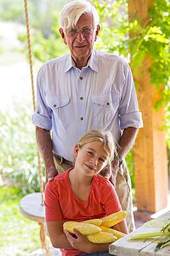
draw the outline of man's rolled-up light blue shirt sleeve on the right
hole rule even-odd
[[[138,110],[138,100],[134,79],[129,65],[126,64],[124,68],[122,96],[118,110],[120,129],[125,129],[127,127],[140,128],[143,127],[142,113]]]

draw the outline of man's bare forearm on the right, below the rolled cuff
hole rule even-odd
[[[117,149],[118,156],[120,158],[124,158],[127,155],[131,147],[134,145],[137,134],[138,128],[128,127],[124,129],[123,135],[120,138],[119,147]]]

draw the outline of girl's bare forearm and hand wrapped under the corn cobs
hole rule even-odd
[[[109,250],[109,244],[93,244],[89,242],[85,236],[81,235],[78,230],[74,229],[77,238],[72,237],[72,235],[70,235],[67,230],[65,230],[64,232],[67,240],[72,245],[72,248],[76,250],[81,250],[84,253],[95,253]]]

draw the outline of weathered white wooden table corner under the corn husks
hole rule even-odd
[[[131,232],[126,237],[120,238],[118,241],[112,243],[109,246],[109,253],[118,256],[170,256],[170,246],[166,246],[161,250],[154,251],[156,248],[156,241],[148,240],[131,240],[131,235],[147,233],[147,232],[159,232],[161,229],[161,222],[170,218],[170,211],[166,212],[157,219],[145,223],[143,226]],[[160,223],[160,226],[158,226]],[[154,225],[154,226],[153,226]]]

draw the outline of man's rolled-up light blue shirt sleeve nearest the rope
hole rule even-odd
[[[45,86],[43,71],[40,70],[36,81],[36,109],[32,115],[34,125],[43,129],[52,129],[52,109],[47,106],[45,100]]]

